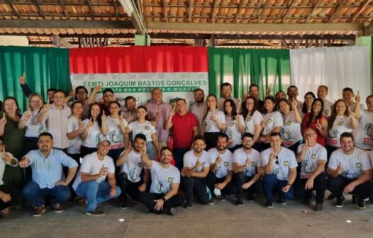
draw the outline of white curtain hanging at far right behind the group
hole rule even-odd
[[[328,86],[328,100],[342,98],[342,90],[360,91],[362,103],[371,93],[370,59],[367,46],[316,47],[290,50],[290,83],[299,89],[298,99],[321,84]]]

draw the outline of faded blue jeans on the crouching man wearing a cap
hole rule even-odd
[[[102,181],[97,183],[95,180],[79,183],[77,187],[77,195],[81,198],[87,199],[87,211],[93,211],[97,208],[97,204],[104,203],[106,200],[111,198],[116,198],[121,194],[121,188],[116,186],[116,195],[111,196],[110,193],[111,187],[108,185],[108,182]]]

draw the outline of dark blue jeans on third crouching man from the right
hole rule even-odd
[[[293,198],[293,186],[291,186],[287,193],[284,193],[282,191],[282,188],[284,188],[287,183],[287,180],[279,180],[276,178],[276,176],[274,176],[274,174],[265,174],[265,176],[263,176],[263,187],[267,201],[272,202],[273,193],[279,193],[280,199],[285,198],[290,200],[291,198]]]

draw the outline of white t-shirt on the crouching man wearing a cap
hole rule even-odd
[[[96,179],[97,183],[101,183],[102,181],[104,181],[108,173],[115,173],[116,169],[114,166],[113,159],[106,155],[103,160],[99,160],[97,158],[97,152],[87,154],[83,158],[82,165],[80,166],[80,169],[77,173],[77,177],[75,178],[75,181],[72,184],[72,188],[74,188],[74,191],[77,191],[77,187],[80,183],[82,183],[82,173],[87,173],[90,175],[99,174],[102,166],[104,166],[104,168],[108,168],[108,172],[105,176],[101,176],[99,179]]]

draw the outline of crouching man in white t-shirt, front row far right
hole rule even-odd
[[[350,132],[340,135],[341,148],[335,150],[328,164],[328,189],[337,198],[335,207],[345,204],[343,193],[357,196],[357,208],[364,209],[364,198],[373,189],[372,164],[367,152],[354,147],[354,137]]]

